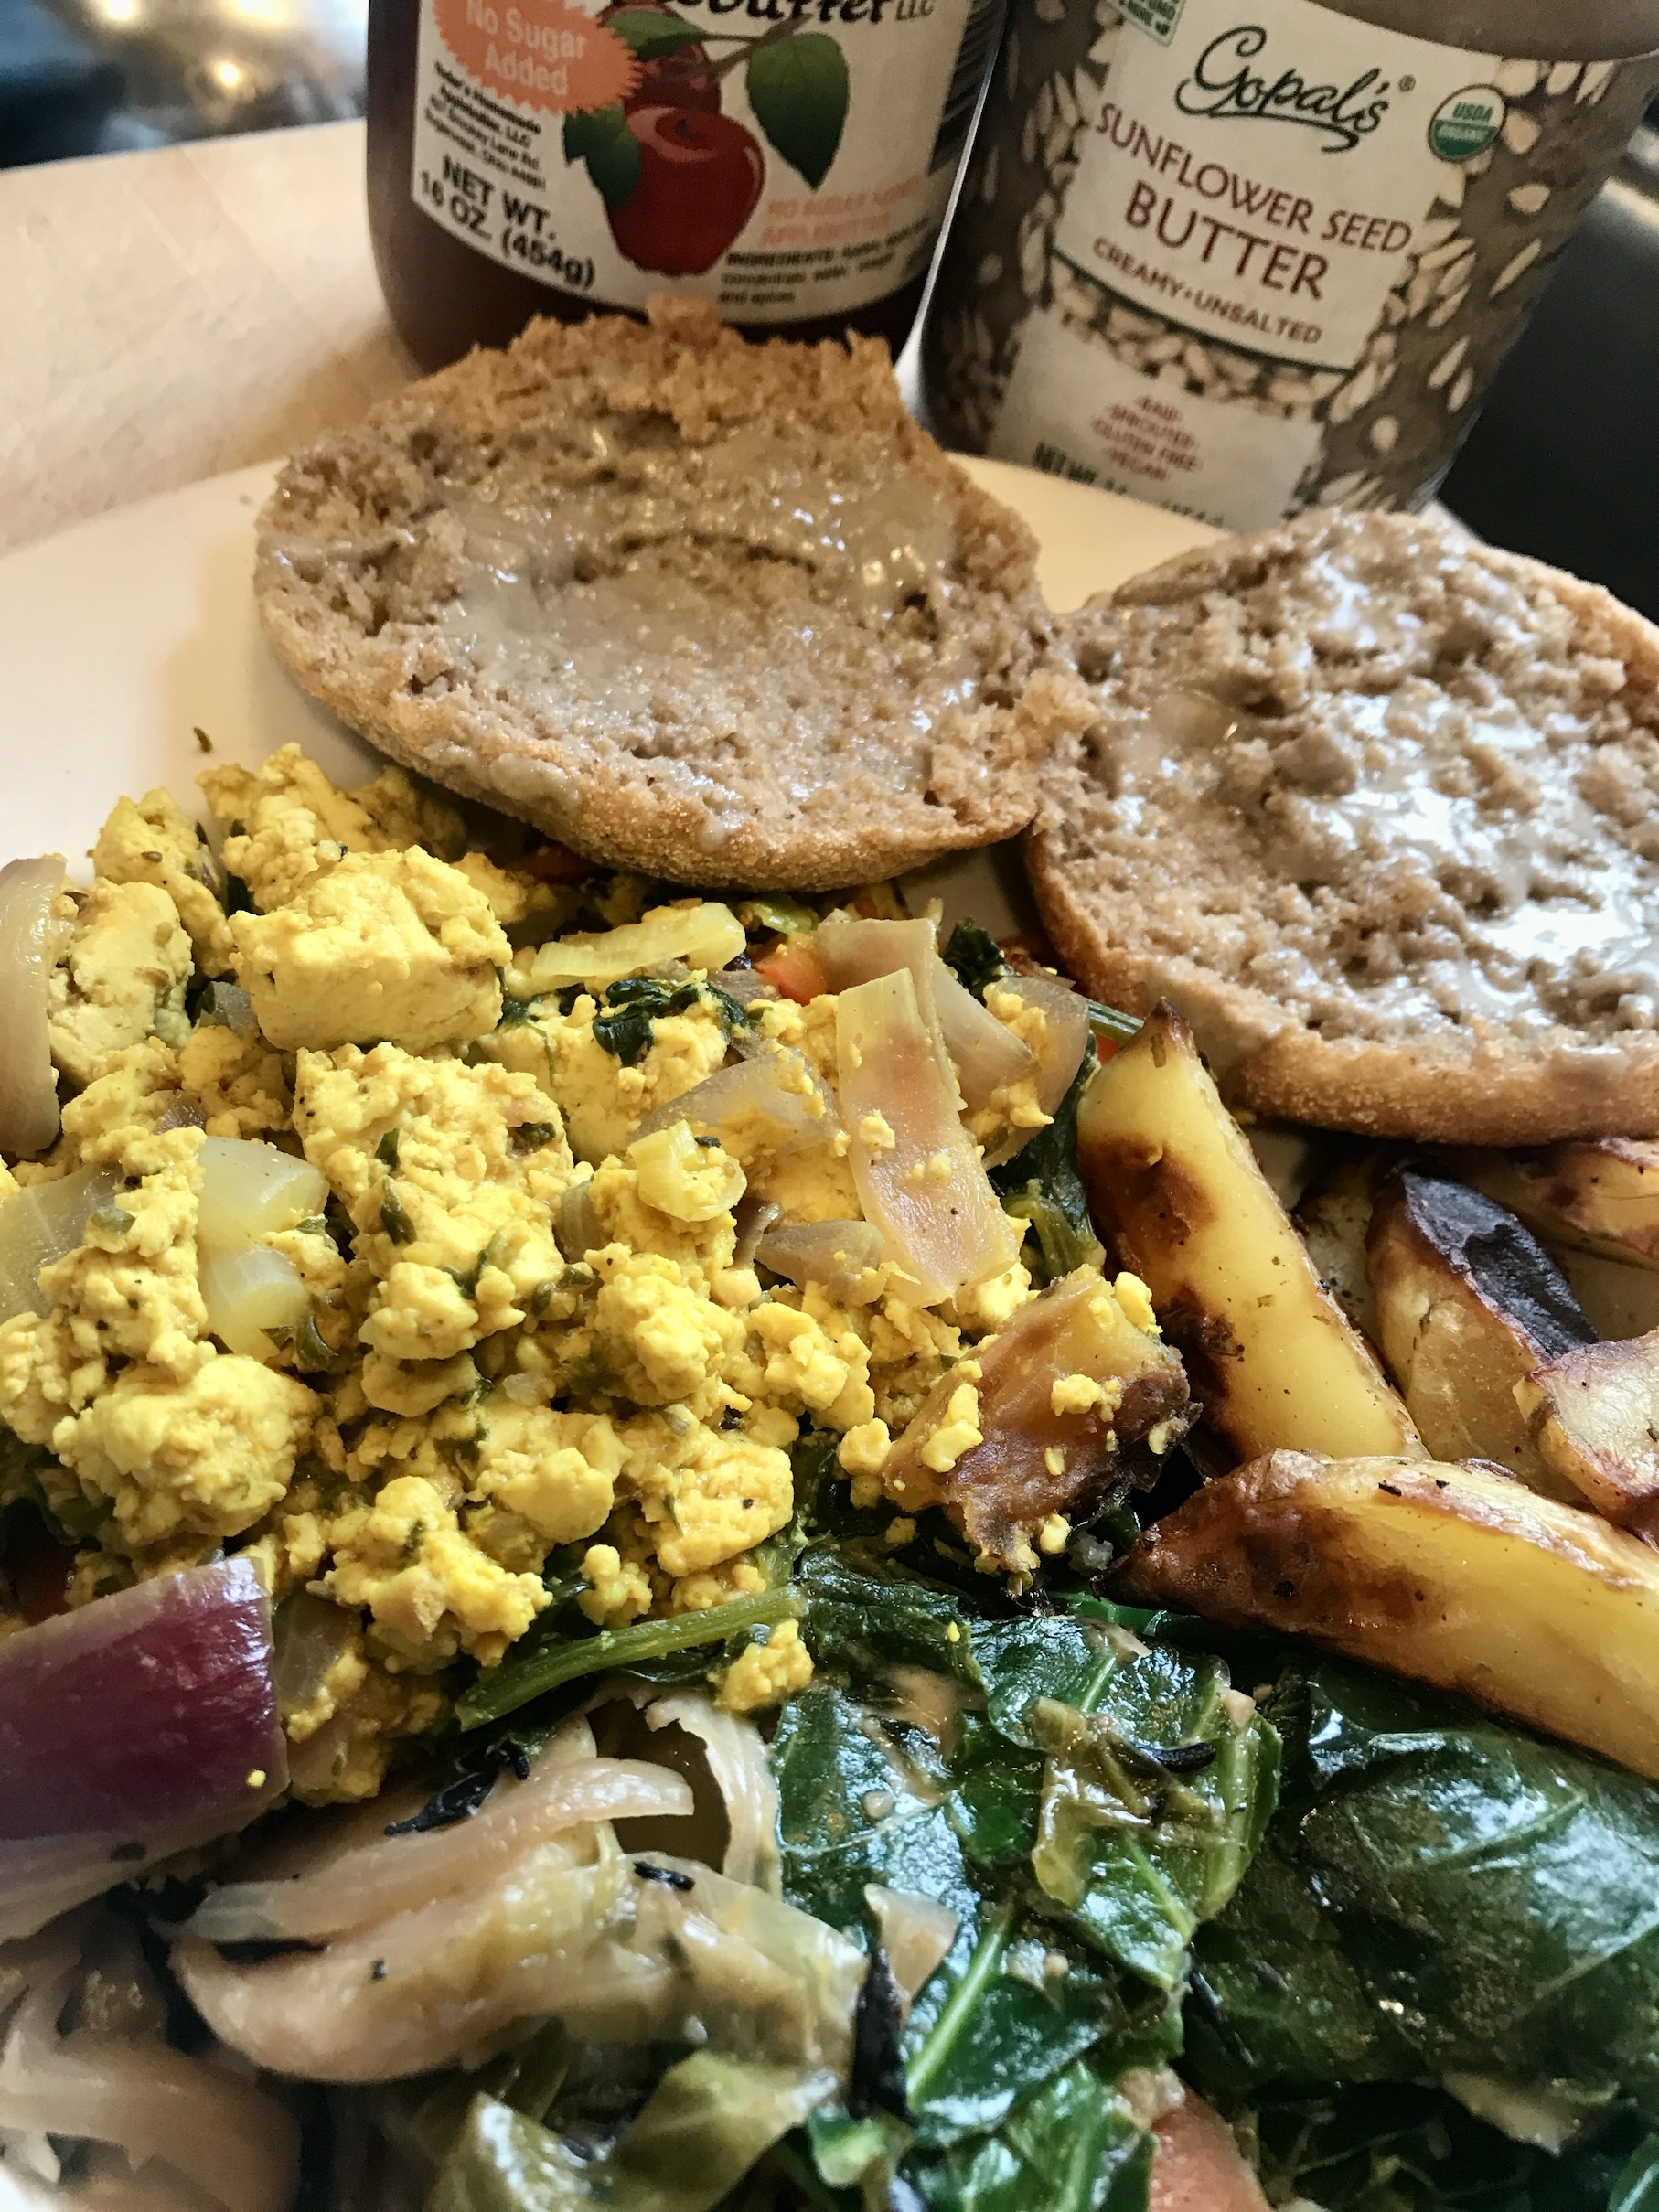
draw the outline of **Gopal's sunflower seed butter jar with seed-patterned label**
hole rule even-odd
[[[1225,529],[1420,504],[1657,46],[1659,0],[1015,0],[936,427]]]

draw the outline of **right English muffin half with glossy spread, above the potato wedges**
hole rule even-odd
[[[1374,1135],[1659,1133],[1659,630],[1316,511],[1093,599],[1029,836],[1073,971],[1230,1095]]]

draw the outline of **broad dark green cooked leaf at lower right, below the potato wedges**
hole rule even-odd
[[[1659,2119],[1659,1792],[1469,1705],[1287,1668],[1285,1803],[1199,1936],[1201,2084],[1449,2081],[1482,2112]]]

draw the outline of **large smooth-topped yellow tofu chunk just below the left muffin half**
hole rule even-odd
[[[487,1035],[511,947],[482,891],[445,860],[347,854],[285,907],[237,914],[237,980],[283,1048]]]

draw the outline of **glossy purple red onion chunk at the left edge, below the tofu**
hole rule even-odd
[[[0,1641],[0,1938],[246,1827],[288,1785],[246,1559]]]

